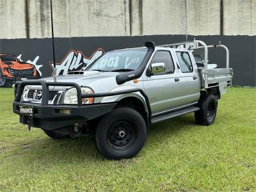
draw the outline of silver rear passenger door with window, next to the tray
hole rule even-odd
[[[200,78],[195,60],[191,60],[193,55],[188,51],[176,51],[176,57],[179,61],[180,89],[183,94],[180,102],[182,106],[198,102],[200,97]]]

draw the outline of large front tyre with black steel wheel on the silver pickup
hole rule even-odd
[[[95,143],[107,159],[136,156],[147,138],[143,117],[131,108],[118,108],[104,116],[95,131]]]

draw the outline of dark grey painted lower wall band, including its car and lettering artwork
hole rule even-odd
[[[230,52],[230,67],[234,71],[232,84],[256,86],[255,36],[188,35],[188,40],[194,38],[209,45],[218,44],[221,41],[221,44],[226,45]],[[55,38],[55,40],[57,74],[65,75],[75,70],[84,70],[105,51],[142,47],[145,41],[153,41],[156,45],[182,42],[186,40],[186,35],[91,36]],[[243,49],[237,49],[237,45]],[[52,76],[51,38],[0,39],[0,56],[3,58],[3,60],[0,59],[0,87],[12,86],[12,83],[19,79]],[[225,68],[225,61],[224,49],[209,50],[209,62]],[[102,65],[104,63],[115,65],[114,61],[104,61]],[[124,64],[129,65],[129,61],[127,63],[124,61]]]

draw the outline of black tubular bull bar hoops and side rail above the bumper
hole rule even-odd
[[[20,102],[20,99],[22,97],[22,93],[24,92],[24,88],[27,85],[40,85],[42,86],[42,101],[41,106],[48,106],[48,95],[49,95],[49,86],[67,86],[67,87],[74,87],[77,90],[77,107],[81,108],[84,105],[82,104],[82,99],[84,98],[95,98],[95,97],[109,97],[109,96],[115,96],[115,95],[122,95],[125,93],[134,93],[134,92],[140,92],[141,95],[145,98],[145,102],[147,104],[147,110],[148,110],[148,122],[151,122],[151,108],[150,103],[148,100],[147,95],[143,90],[140,88],[134,88],[129,90],[122,90],[122,91],[116,91],[116,92],[106,92],[106,93],[86,93],[82,94],[81,87],[77,83],[72,82],[47,82],[43,79],[40,80],[26,80],[22,82],[15,83],[15,100],[14,102]],[[100,104],[100,103],[99,103]]]

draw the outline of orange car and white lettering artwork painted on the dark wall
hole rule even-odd
[[[83,52],[70,50],[65,55],[60,63],[56,63],[57,75],[65,75],[71,71],[85,70],[93,61],[97,60],[104,49],[97,49],[90,57],[84,56]],[[23,61],[22,54],[15,56],[13,54],[0,53],[0,87],[10,87],[16,81],[25,79],[40,79],[44,74],[40,68],[43,65],[38,64],[39,56],[36,56],[33,61]],[[53,69],[53,62],[49,65]]]

